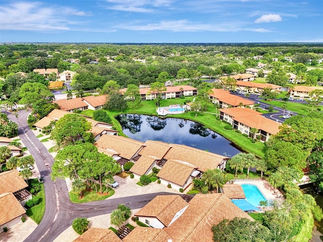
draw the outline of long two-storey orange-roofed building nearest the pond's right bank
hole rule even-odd
[[[220,109],[220,119],[232,124],[235,130],[240,130],[242,134],[247,134],[251,138],[260,135],[261,141],[268,141],[271,135],[279,132],[280,123],[263,117],[262,113],[248,108],[223,108]],[[252,134],[251,128],[256,128],[258,133]]]

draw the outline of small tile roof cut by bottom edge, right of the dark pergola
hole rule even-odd
[[[137,226],[122,241],[167,242],[171,238],[163,229]]]

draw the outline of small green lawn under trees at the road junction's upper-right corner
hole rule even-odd
[[[98,193],[96,193],[95,190],[94,191],[84,191],[84,196],[81,199],[79,199],[78,194],[69,192],[69,195],[70,195],[70,200],[73,203],[87,203],[87,202],[105,200],[115,194],[115,190],[113,190],[111,188],[107,188],[107,190],[106,190],[106,187],[103,185],[102,185],[102,191],[103,191],[102,195],[99,192],[99,188],[98,188]]]

